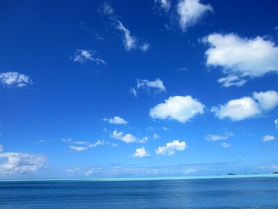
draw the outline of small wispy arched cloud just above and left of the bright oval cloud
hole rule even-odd
[[[155,79],[154,81],[148,81],[147,79],[137,79],[136,82],[136,86],[130,89],[130,92],[135,97],[137,97],[137,91],[140,88],[145,89],[147,93],[150,93],[151,89],[154,89],[155,93],[166,93],[166,87],[164,86],[161,79]]]

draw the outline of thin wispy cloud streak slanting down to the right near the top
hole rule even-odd
[[[123,44],[124,49],[126,51],[131,51],[131,49],[140,49],[143,52],[146,52],[149,49],[149,43],[147,42],[139,42],[138,38],[136,36],[131,35],[131,31],[124,26],[124,24],[119,20],[117,15],[115,15],[115,12],[112,8],[112,6],[109,3],[104,3],[101,6],[99,6],[99,14],[106,15],[113,23],[113,26],[117,31],[121,31],[123,36]]]

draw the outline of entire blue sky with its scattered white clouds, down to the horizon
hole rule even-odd
[[[0,178],[278,170],[276,1],[0,5]]]

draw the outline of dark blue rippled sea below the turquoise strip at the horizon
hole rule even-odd
[[[0,208],[278,208],[278,178],[0,182]]]

